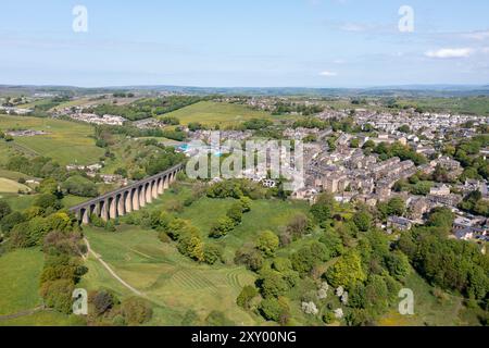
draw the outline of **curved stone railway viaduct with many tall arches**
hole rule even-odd
[[[124,216],[152,203],[153,199],[156,199],[175,182],[176,175],[183,170],[184,164],[178,164],[163,173],[75,206],[70,211],[75,213],[78,221],[85,225],[90,223],[92,214],[103,221]]]

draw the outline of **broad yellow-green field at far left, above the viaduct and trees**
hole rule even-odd
[[[30,152],[32,156],[49,157],[62,165],[93,164],[103,156],[103,150],[95,146],[90,138],[93,128],[90,125],[68,121],[0,116],[0,130],[12,128],[45,130],[48,135],[34,137],[16,137],[12,145],[18,149]]]

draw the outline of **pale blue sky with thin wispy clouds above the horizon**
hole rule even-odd
[[[489,85],[487,0],[3,0],[1,8],[0,84]]]

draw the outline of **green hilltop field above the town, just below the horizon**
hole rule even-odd
[[[229,126],[250,119],[272,119],[266,112],[255,111],[244,105],[223,102],[201,101],[167,113],[165,117],[177,117],[181,124],[199,122],[204,125]]]

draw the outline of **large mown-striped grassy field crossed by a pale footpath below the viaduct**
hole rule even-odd
[[[189,309],[201,319],[220,310],[238,325],[255,323],[236,304],[242,286],[254,282],[244,268],[199,265],[179,254],[174,245],[159,241],[155,232],[140,227],[122,226],[117,233],[86,228],[86,235],[92,249],[155,304],[150,325],[178,325]],[[80,286],[110,287],[121,297],[129,295],[95,260],[89,260],[88,266],[90,271]]]

